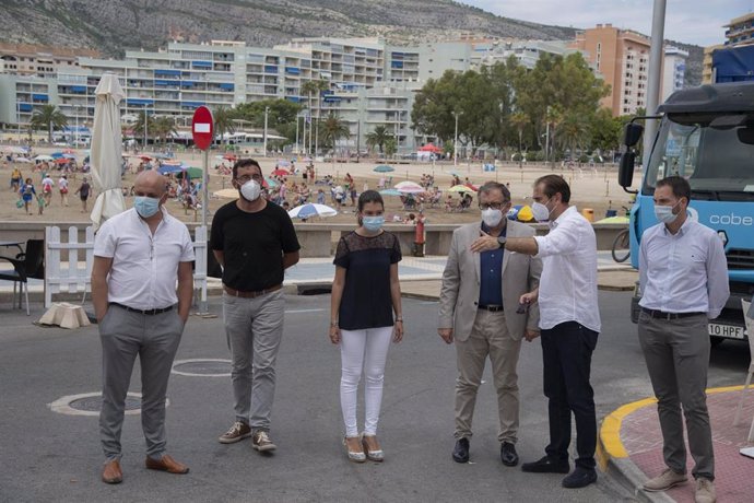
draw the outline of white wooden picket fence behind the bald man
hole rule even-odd
[[[197,257],[193,270],[193,288],[200,290],[202,311],[207,307],[207,227],[195,231],[193,250]],[[68,227],[68,241],[60,239],[60,227],[45,227],[45,308],[52,305],[52,294],[81,293],[82,304],[92,292],[92,266],[94,264],[94,230],[85,230],[85,242],[79,243],[79,227]],[[62,252],[68,252],[68,259]],[[80,255],[83,254],[83,255]],[[80,267],[80,257],[84,267]]]

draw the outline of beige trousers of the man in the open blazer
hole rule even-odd
[[[514,340],[505,324],[505,313],[480,309],[469,339],[456,340],[458,378],[456,379],[455,437],[470,438],[476,391],[482,383],[484,364],[490,356],[492,377],[497,391],[500,429],[497,440],[515,444],[518,433],[518,355],[521,340]]]

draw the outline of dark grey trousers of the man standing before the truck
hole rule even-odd
[[[683,407],[688,447],[694,458],[692,475],[714,480],[715,454],[705,394],[709,366],[707,316],[668,320],[640,313],[638,331],[658,399],[665,465],[679,473],[686,471]]]

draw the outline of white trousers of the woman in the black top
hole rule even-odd
[[[366,435],[377,434],[379,408],[382,402],[385,362],[391,338],[392,327],[341,330],[340,406],[343,410],[346,436],[358,435],[356,401],[362,372],[366,375],[364,433]]]

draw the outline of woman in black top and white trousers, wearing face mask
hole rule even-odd
[[[335,279],[330,305],[330,340],[341,347],[340,401],[345,423],[349,459],[362,463],[384,459],[377,442],[382,401],[385,361],[390,340],[403,338],[398,238],[382,231],[382,197],[366,190],[358,198],[358,229],[342,237],[335,252]],[[393,325],[393,313],[396,320]],[[361,437],[356,401],[362,372],[365,421]]]

